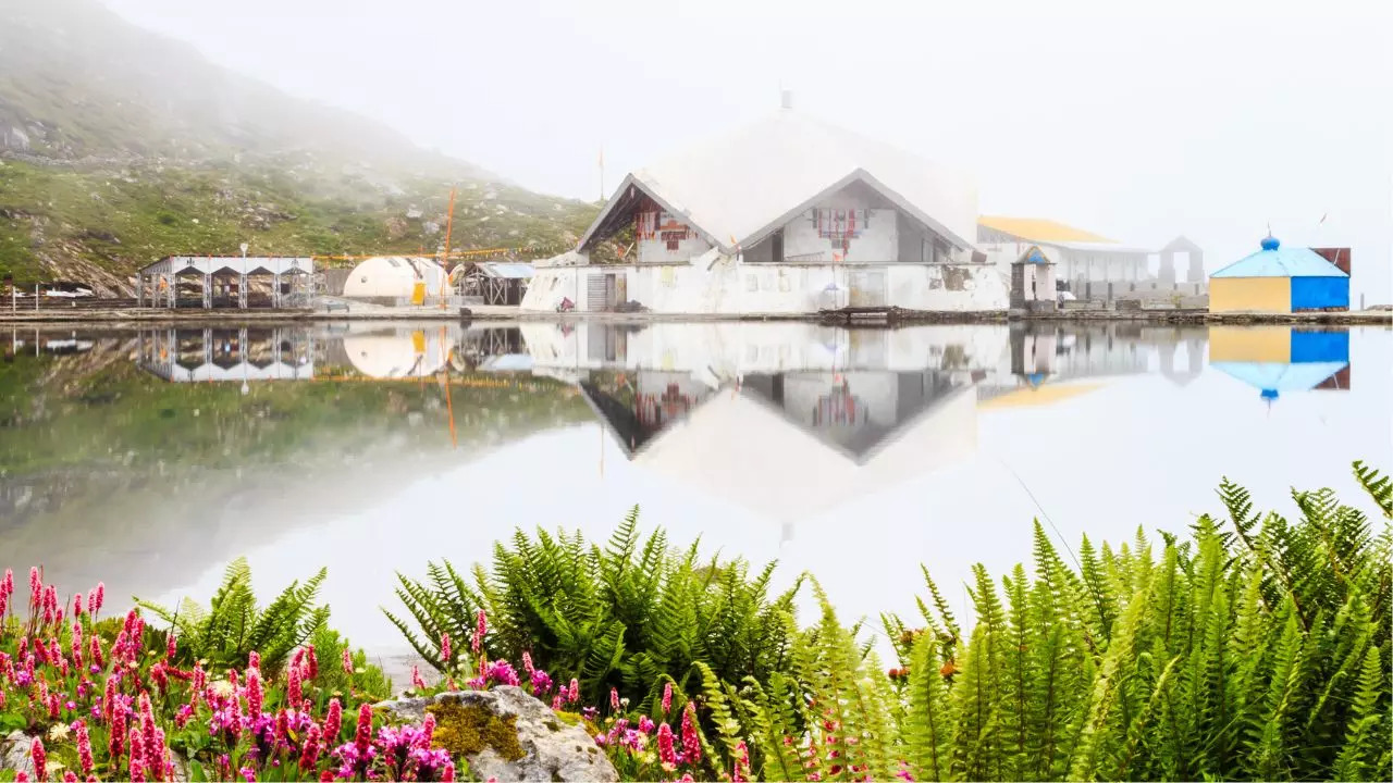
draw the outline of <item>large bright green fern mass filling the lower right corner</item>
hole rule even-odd
[[[1389,479],[1355,475],[1393,515]],[[883,619],[889,677],[823,598],[784,670],[703,669],[713,772],[744,743],[769,780],[1389,780],[1387,522],[1329,490],[1293,492],[1293,520],[1219,495],[1226,521],[1085,538],[1075,566],[1036,524],[1032,573],[974,568],[970,631],[925,573],[922,620]]]

